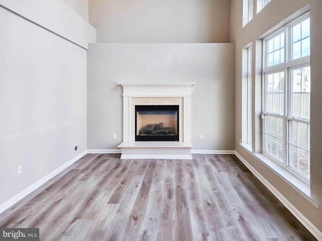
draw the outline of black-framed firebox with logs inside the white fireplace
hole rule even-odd
[[[135,141],[179,141],[179,105],[135,105]]]

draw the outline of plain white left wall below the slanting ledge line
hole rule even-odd
[[[0,204],[82,153],[87,140],[86,49],[40,27],[39,16],[36,25],[13,12],[0,5]]]

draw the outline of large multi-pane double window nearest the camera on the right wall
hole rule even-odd
[[[263,153],[310,178],[310,19],[264,39]]]

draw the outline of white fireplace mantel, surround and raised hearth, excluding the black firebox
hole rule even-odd
[[[123,87],[121,158],[191,159],[191,94],[195,83],[118,83]],[[135,142],[136,104],[178,104],[179,142]]]

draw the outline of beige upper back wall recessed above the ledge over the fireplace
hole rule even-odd
[[[228,0],[90,0],[98,43],[229,42]]]

